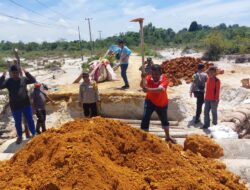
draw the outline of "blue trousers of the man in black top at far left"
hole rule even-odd
[[[18,110],[11,110],[12,115],[15,120],[15,127],[16,127],[16,132],[18,137],[22,137],[22,114],[24,114],[25,119],[27,121],[29,130],[32,135],[36,134],[35,130],[35,123],[32,117],[32,109],[31,106],[26,106],[24,108],[18,109]]]

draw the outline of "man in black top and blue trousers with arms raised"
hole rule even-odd
[[[23,72],[25,77],[20,77],[18,68],[16,65],[12,65],[10,67],[11,77],[5,79],[6,72],[4,72],[0,78],[0,89],[7,88],[9,91],[9,103],[17,131],[17,144],[22,142],[22,114],[26,118],[32,136],[36,134],[27,90],[27,85],[35,83],[36,79],[24,69]]]

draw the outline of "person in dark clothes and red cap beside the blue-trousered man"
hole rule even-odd
[[[42,128],[42,132],[46,131],[46,100],[51,101],[53,104],[55,102],[44,91],[41,90],[42,84],[35,83],[34,87],[35,88],[31,94],[31,100],[37,116],[36,132],[40,134],[40,128]]]

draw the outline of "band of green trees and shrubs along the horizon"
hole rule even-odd
[[[216,27],[210,27],[202,26],[193,21],[188,29],[184,28],[175,32],[171,28],[156,28],[150,23],[144,27],[144,33],[145,52],[146,55],[150,56],[159,56],[156,50],[166,47],[189,47],[204,50],[204,58],[212,60],[217,60],[222,54],[250,53],[250,27],[245,26],[226,26],[226,24],[222,23]],[[120,33],[118,36],[96,40],[93,43],[94,54],[102,56],[106,49],[116,43],[119,38],[123,38],[132,50],[138,52],[139,33],[126,32]],[[40,44],[35,42],[26,44],[23,42],[0,42],[1,54],[10,55],[12,49],[18,48],[21,51],[21,56],[26,59],[65,55],[80,57],[81,54],[88,56],[90,55],[90,47],[91,44],[86,41],[82,41],[81,46],[79,41],[67,42],[65,40]]]

